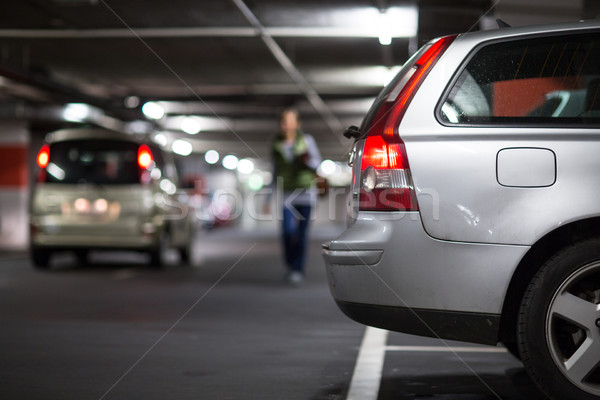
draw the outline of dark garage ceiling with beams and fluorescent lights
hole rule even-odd
[[[470,29],[594,18],[592,0],[20,0],[0,5],[0,116],[59,127],[89,121],[264,157],[279,112],[296,106],[326,157],[341,159],[385,81],[419,45]],[[401,14],[400,10],[408,10]],[[412,10],[412,11],[411,11]],[[379,14],[394,21],[378,41]],[[416,34],[410,33],[411,12]],[[416,28],[416,26],[415,26]],[[165,117],[144,120],[158,101]],[[186,115],[202,130],[181,131]],[[126,125],[124,125],[126,123]]]

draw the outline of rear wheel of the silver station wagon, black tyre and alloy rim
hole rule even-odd
[[[552,399],[600,399],[600,240],[550,258],[521,303],[519,352]]]

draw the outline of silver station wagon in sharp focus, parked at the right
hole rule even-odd
[[[345,135],[340,309],[504,343],[548,397],[600,399],[600,22],[434,40]]]

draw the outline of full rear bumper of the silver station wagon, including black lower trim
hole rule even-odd
[[[333,297],[358,322],[491,343],[510,279],[528,249],[434,239],[418,212],[361,212],[323,245],[323,258]]]

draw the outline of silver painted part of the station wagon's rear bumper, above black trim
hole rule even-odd
[[[416,212],[361,212],[324,246],[338,255],[325,256],[338,301],[489,314],[501,313],[510,277],[529,249],[438,240]],[[381,260],[361,263],[365,251],[382,252]]]

